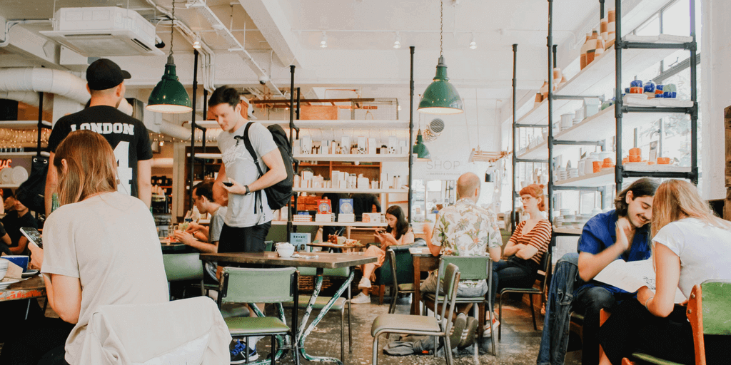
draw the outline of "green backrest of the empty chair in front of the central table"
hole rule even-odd
[[[279,303],[297,294],[298,274],[294,267],[249,269],[224,267],[220,303]]]

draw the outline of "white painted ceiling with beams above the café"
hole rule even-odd
[[[150,0],[170,10],[171,0]],[[160,13],[148,0],[56,0],[60,7],[129,7],[152,21]],[[289,64],[296,64],[296,86],[308,97],[325,96],[327,89],[357,89],[363,97],[395,97],[408,107],[409,46],[415,47],[416,94],[431,82],[439,57],[439,1],[442,0],[208,0],[207,4],[232,34],[249,51],[257,64],[279,88],[289,88]],[[610,2],[613,0],[607,0]],[[624,0],[662,7],[669,0]],[[53,16],[51,0],[0,0],[0,16],[11,19],[39,19]],[[518,87],[539,88],[546,74],[548,1],[545,0],[443,0],[444,57],[451,81],[458,87],[471,112],[473,123],[495,123],[495,110],[510,99],[512,44],[518,44]],[[650,6],[647,6],[650,4]],[[216,85],[230,84],[259,88],[257,74],[229,46],[205,19],[184,0],[175,2],[175,16],[216,53]],[[649,10],[648,10],[649,11]],[[586,26],[598,23],[598,1],[554,1],[556,44],[575,44]],[[231,16],[233,15],[233,16]],[[257,24],[258,23],[258,24]],[[49,26],[25,26],[30,31]],[[261,28],[261,30],[260,30]],[[246,31],[244,31],[246,29]],[[159,37],[170,42],[169,22],[157,26]],[[327,48],[320,48],[322,31],[327,31]],[[401,49],[393,48],[395,32]],[[11,31],[11,36],[13,31]],[[472,40],[477,49],[469,49]],[[575,35],[576,34],[576,35]],[[12,43],[11,43],[12,44]],[[168,47],[163,49],[167,54]],[[0,48],[0,66],[48,63],[29,52],[9,54],[13,47]],[[181,82],[192,85],[192,47],[176,32],[175,61]],[[577,53],[573,47],[567,50]],[[44,62],[42,62],[44,61]],[[148,93],[162,74],[165,58],[115,58],[133,78],[132,93]],[[47,65],[48,66],[48,65]],[[199,76],[200,77],[200,76]],[[200,80],[199,80],[200,83]],[[331,97],[333,92],[328,92]],[[417,96],[418,101],[418,96]],[[406,113],[403,113],[406,115]],[[507,116],[504,116],[507,118]],[[483,122],[479,122],[483,123]],[[488,122],[485,122],[488,123]]]

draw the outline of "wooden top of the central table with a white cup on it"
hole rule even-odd
[[[267,264],[273,266],[305,266],[323,269],[339,269],[341,267],[372,264],[378,260],[376,256],[358,253],[298,253],[317,258],[283,258],[274,252],[259,253],[201,253],[200,259],[232,264]]]

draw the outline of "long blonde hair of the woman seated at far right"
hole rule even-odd
[[[697,218],[709,226],[730,229],[731,222],[713,214],[701,199],[698,189],[683,180],[666,180],[657,188],[652,203],[652,237],[668,223],[683,218]]]

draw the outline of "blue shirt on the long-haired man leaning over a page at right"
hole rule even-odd
[[[610,210],[606,213],[600,213],[594,215],[584,225],[581,237],[579,237],[579,253],[591,253],[596,255],[602,252],[607,247],[614,245],[617,241],[617,211]],[[617,259],[624,261],[640,261],[650,258],[650,225],[645,224],[642,228],[638,228],[635,232],[635,239],[632,240],[632,245],[629,246],[629,252],[625,251]],[[591,280],[591,283],[582,285],[578,290],[586,288],[587,286],[602,286],[607,288],[608,291],[613,294],[626,293],[626,291],[616,288],[612,285],[605,283],[599,283]]]

